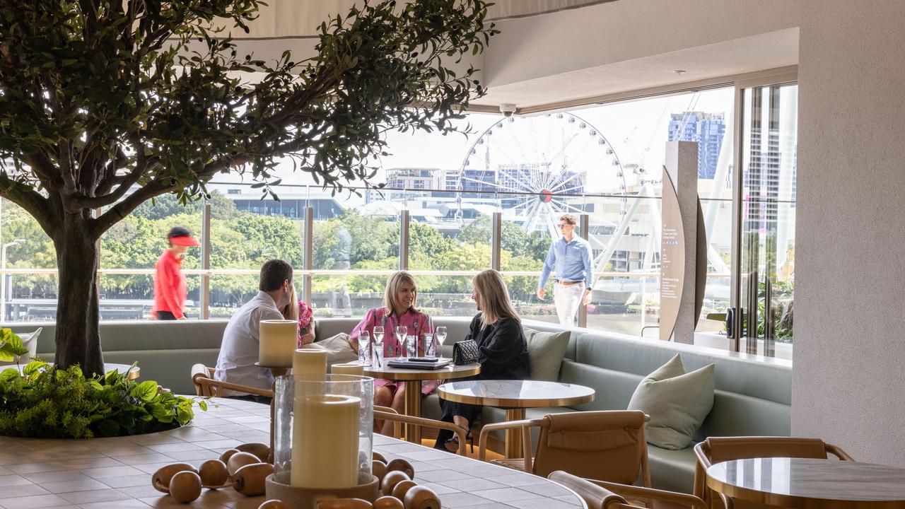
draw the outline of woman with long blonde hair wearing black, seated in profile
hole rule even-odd
[[[528,342],[525,341],[519,314],[512,307],[502,275],[494,270],[486,270],[472,278],[472,285],[472,300],[477,304],[478,314],[472,319],[465,339],[478,343],[481,374],[469,379],[528,379]],[[471,428],[474,419],[481,415],[480,405],[440,399],[440,406],[443,409],[440,420],[455,423],[466,431]],[[433,447],[454,451],[458,444],[452,438],[452,431],[441,429]]]

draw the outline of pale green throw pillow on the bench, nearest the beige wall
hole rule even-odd
[[[686,373],[681,357],[644,377],[628,409],[651,416],[647,441],[664,449],[684,449],[713,408],[713,364]]]

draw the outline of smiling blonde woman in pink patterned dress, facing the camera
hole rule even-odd
[[[414,285],[412,274],[399,271],[390,276],[386,282],[384,293],[384,305],[367,311],[365,318],[359,322],[349,336],[349,344],[354,351],[358,351],[358,336],[362,331],[368,331],[371,339],[374,339],[374,327],[384,327],[384,355],[386,357],[398,356],[403,351],[402,345],[395,336],[395,328],[405,325],[408,335],[420,338],[423,334],[433,332],[433,322],[424,312],[415,308],[418,290]],[[373,343],[372,343],[373,345]],[[421,386],[422,395],[432,393],[440,385],[440,380],[425,380]],[[403,413],[405,410],[405,382],[385,379],[374,381],[374,404],[382,407],[392,407]],[[382,433],[389,435],[393,431],[393,423],[384,422]]]

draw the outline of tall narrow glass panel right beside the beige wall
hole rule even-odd
[[[743,91],[740,349],[791,358],[795,292],[797,85]]]

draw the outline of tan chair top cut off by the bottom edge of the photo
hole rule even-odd
[[[707,509],[707,504],[694,495],[583,479],[562,470],[552,472],[548,475],[548,479],[574,491],[576,495],[584,499],[588,509],[635,509],[653,507],[657,502],[668,504],[670,507],[681,505],[693,509]],[[643,500],[645,505],[630,502],[639,499]]]

